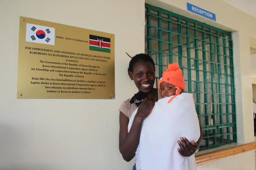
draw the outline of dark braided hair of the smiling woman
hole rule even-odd
[[[130,55],[128,55],[128,56],[131,57]],[[149,62],[151,62],[153,67],[154,67],[154,71],[156,71],[155,62],[151,57],[149,57],[149,55],[141,53],[141,54],[137,54],[137,55],[135,55],[134,57],[131,57],[131,58],[132,59],[130,60],[130,63],[129,63],[128,74],[129,74],[129,71],[133,72],[134,65],[136,64],[136,62],[139,62],[139,61],[143,61],[143,62],[149,61]]]

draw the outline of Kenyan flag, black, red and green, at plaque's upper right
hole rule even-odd
[[[110,53],[110,38],[90,35],[90,50]]]

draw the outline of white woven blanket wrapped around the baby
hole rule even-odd
[[[180,137],[186,137],[189,142],[197,142],[200,137],[192,94],[181,93],[167,103],[171,97],[158,100],[152,113],[143,121],[139,146],[135,153],[136,170],[197,169],[195,155],[180,155],[177,143]],[[130,118],[128,132],[136,113],[137,109]]]

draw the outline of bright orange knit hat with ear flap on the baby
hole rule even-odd
[[[173,64],[168,65],[168,69],[165,72],[163,72],[163,77],[161,77],[161,79],[159,79],[158,81],[159,88],[160,88],[161,82],[167,82],[167,83],[173,84],[175,88],[177,88],[176,95],[174,95],[174,97],[179,95],[182,90],[185,90],[185,81],[182,75],[182,69],[179,68],[178,63],[174,62]],[[172,97],[168,101],[168,103],[171,102],[174,97]]]

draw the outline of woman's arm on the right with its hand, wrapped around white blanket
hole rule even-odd
[[[191,143],[189,143],[189,141],[185,137],[180,137],[180,140],[182,141],[182,143],[178,141],[178,144],[180,145],[180,149],[178,149],[178,152],[180,153],[180,155],[189,157],[199,150],[202,137],[203,137],[203,128],[200,123],[199,123],[199,126],[200,126],[200,137],[197,142],[191,141]]]

